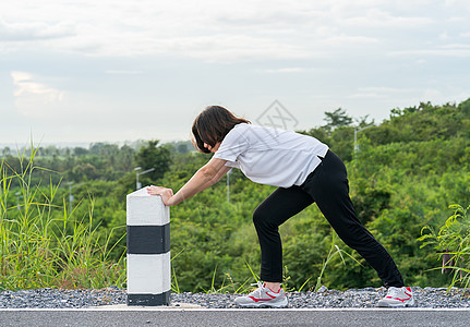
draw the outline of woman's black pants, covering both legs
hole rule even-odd
[[[253,222],[261,245],[261,279],[282,281],[278,227],[315,202],[341,240],[365,258],[386,287],[402,287],[403,279],[393,258],[355,216],[341,159],[330,150],[321,159],[322,164],[302,185],[277,189],[254,211]]]

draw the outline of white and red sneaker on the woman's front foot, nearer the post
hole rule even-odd
[[[267,288],[265,283],[260,281],[257,282],[257,289],[245,296],[237,298],[234,303],[245,307],[286,307],[289,304],[282,289],[274,292],[272,289]]]

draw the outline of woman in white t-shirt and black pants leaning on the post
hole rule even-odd
[[[387,295],[378,306],[411,306],[410,288],[385,249],[361,225],[349,197],[346,167],[318,140],[264,126],[252,125],[229,110],[207,107],[194,120],[193,144],[202,153],[214,153],[190,181],[173,194],[171,189],[149,186],[167,206],[177,205],[214,185],[232,167],[253,182],[275,185],[253,214],[261,245],[258,288],[236,299],[240,306],[284,307],[288,300],[280,288],[282,247],[278,227],[309,205],[316,203],[341,240],[357,250],[377,271]]]

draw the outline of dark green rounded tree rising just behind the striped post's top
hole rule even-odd
[[[165,172],[170,169],[171,164],[170,152],[164,146],[158,146],[158,140],[148,141],[147,145],[141,147],[135,157],[135,162],[142,170],[155,168],[154,171],[146,174],[153,181],[162,178]]]

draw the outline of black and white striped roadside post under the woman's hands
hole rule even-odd
[[[141,189],[128,194],[128,305],[170,305],[170,210]]]

